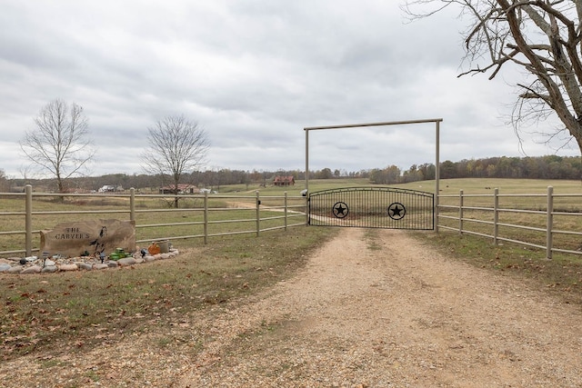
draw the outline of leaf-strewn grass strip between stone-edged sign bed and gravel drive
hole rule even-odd
[[[185,241],[176,258],[114,270],[0,275],[0,350],[4,360],[47,349],[82,351],[122,333],[163,330],[187,313],[274,284],[305,264],[336,234],[294,227],[259,237]]]

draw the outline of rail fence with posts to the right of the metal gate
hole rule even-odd
[[[438,227],[553,253],[582,254],[582,194],[441,194]],[[507,202],[508,204],[501,204]],[[487,205],[488,203],[488,205]]]

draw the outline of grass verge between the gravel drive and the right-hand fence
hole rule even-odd
[[[555,291],[566,303],[582,303],[582,258],[546,252],[519,244],[494,245],[490,239],[454,232],[414,233],[419,244],[428,244],[447,257],[497,273],[532,279],[540,288]]]

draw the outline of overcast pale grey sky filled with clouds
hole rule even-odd
[[[304,127],[432,118],[441,161],[524,156],[507,124],[517,73],[457,78],[466,22],[407,23],[399,3],[0,0],[0,168],[22,176],[18,142],[56,98],[85,110],[94,175],[143,173],[147,127],[176,114],[205,128],[205,168],[303,170]],[[527,155],[555,153],[524,136]],[[309,144],[310,169],[407,169],[435,162],[435,124]]]

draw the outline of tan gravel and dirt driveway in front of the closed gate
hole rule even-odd
[[[345,229],[306,270],[207,322],[179,386],[580,387],[582,313],[389,230]]]

